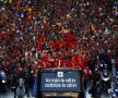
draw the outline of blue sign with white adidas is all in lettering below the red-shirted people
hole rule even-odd
[[[79,70],[43,70],[42,91],[80,91],[80,78]]]

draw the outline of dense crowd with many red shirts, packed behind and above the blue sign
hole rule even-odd
[[[0,0],[0,71],[13,81],[40,68],[88,65],[93,73],[99,62],[118,60],[117,7],[117,0]]]

